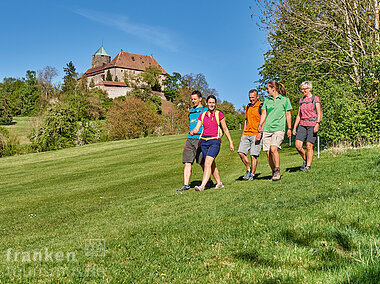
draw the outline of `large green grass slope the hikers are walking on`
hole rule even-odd
[[[379,283],[379,148],[242,181],[226,142],[226,187],[183,194],[184,135],[0,159],[0,282]]]

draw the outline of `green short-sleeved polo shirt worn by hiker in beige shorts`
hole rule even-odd
[[[272,97],[264,101],[263,110],[267,112],[267,118],[264,124],[265,132],[285,131],[286,115],[288,110],[292,109],[288,97],[278,95],[274,100]]]

